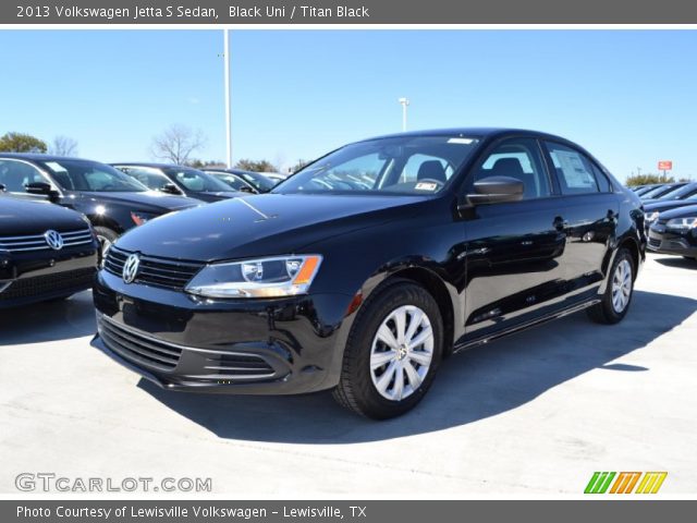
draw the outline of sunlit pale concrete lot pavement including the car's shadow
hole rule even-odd
[[[90,300],[0,313],[0,492],[24,472],[234,496],[580,494],[594,471],[697,486],[697,262],[648,255],[622,324],[582,313],[458,354],[382,423],[328,393],[161,391],[89,346]]]

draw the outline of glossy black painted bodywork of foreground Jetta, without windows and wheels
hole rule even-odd
[[[530,131],[412,134],[477,136],[480,144],[437,195],[284,194],[281,184],[270,194],[148,223],[117,244],[126,252],[199,263],[320,254],[323,263],[308,295],[200,300],[99,272],[95,303],[107,320],[192,352],[285,354],[282,374],[241,384],[208,376],[200,365],[162,372],[124,361],[99,335],[93,343],[169,388],[307,392],[337,385],[356,312],[390,277],[412,279],[433,294],[452,352],[597,303],[620,247],[629,250],[637,269],[641,265],[646,236],[639,198],[599,163],[611,192],[562,196],[547,157],[550,197],[493,205],[467,199],[470,172],[501,141],[551,139],[592,158],[580,147]]]

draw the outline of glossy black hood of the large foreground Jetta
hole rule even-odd
[[[117,246],[200,262],[292,254],[328,238],[411,216],[429,199],[252,195],[151,220],[121,236]]]

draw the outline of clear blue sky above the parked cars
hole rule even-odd
[[[486,125],[576,141],[621,180],[697,178],[692,31],[237,31],[233,157],[291,165],[409,129]],[[0,134],[66,135],[81,156],[150,159],[172,123],[223,159],[222,32],[1,31]]]

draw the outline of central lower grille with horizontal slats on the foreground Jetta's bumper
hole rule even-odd
[[[182,355],[181,348],[142,335],[105,316],[98,318],[98,328],[101,339],[110,350],[140,365],[172,370]]]

